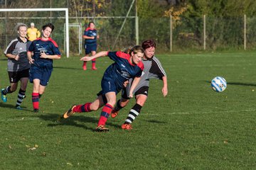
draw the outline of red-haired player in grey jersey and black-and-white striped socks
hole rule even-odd
[[[162,94],[163,96],[166,96],[168,94],[166,72],[161,66],[161,62],[154,55],[154,52],[156,50],[156,43],[154,42],[154,40],[145,40],[144,42],[142,42],[142,47],[144,49],[144,57],[142,59],[142,62],[144,64],[144,74],[142,75],[136,89],[134,89],[136,104],[129,111],[129,114],[124,121],[124,124],[121,126],[121,128],[124,130],[132,129],[132,122],[135,120],[135,118],[137,118],[140,111],[142,110],[142,107],[144,106],[144,103],[146,102],[146,98],[149,94],[149,79],[161,79],[163,81],[163,87],[161,89]],[[132,79],[130,79],[129,81],[131,82]],[[117,101],[117,105],[114,107],[111,113],[112,118],[115,118],[118,115],[119,110],[127,106],[127,104],[129,103],[129,96],[127,94],[129,94],[129,85],[127,86],[127,88],[122,90],[122,98]]]

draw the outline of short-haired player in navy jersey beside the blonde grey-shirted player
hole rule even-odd
[[[29,80],[33,83],[32,102],[34,112],[38,112],[39,98],[45,91],[50,74],[53,71],[53,60],[60,59],[58,45],[50,38],[53,30],[52,23],[44,25],[41,38],[33,40],[28,48],[28,60],[31,64]]]

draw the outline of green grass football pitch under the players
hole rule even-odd
[[[101,110],[55,120],[74,103],[95,99],[112,61],[101,58],[96,72],[85,72],[79,57],[56,60],[40,113],[32,112],[32,84],[23,111],[14,108],[17,91],[0,101],[0,169],[255,169],[255,52],[158,57],[169,77],[168,96],[161,81],[151,80],[134,129],[120,128],[133,99],[109,118],[107,133],[95,132]],[[1,88],[9,85],[6,63],[1,56]],[[210,88],[216,76],[228,82],[223,93]]]

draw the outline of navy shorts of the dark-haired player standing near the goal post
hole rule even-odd
[[[49,67],[31,67],[29,81],[33,83],[33,79],[39,79],[42,86],[47,86],[51,72],[53,69]]]

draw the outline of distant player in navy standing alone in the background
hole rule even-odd
[[[90,53],[95,55],[97,51],[97,39],[100,38],[97,30],[95,29],[95,23],[90,22],[88,24],[88,28],[85,29],[85,33],[82,38],[85,38],[85,56],[89,56]],[[82,64],[82,69],[87,69],[86,64],[87,62],[84,61]],[[92,60],[92,70],[96,69],[96,60],[94,59]]]

